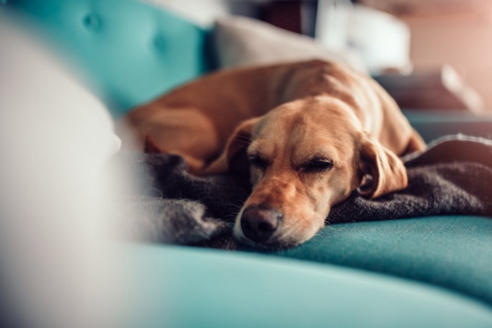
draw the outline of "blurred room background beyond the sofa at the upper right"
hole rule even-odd
[[[492,108],[492,1],[145,0],[203,26],[245,15],[358,53],[405,108]]]

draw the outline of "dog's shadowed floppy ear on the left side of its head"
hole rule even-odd
[[[249,173],[250,164],[246,150],[253,140],[254,126],[259,122],[259,119],[259,117],[247,119],[236,127],[231,137],[227,140],[224,151],[207,166],[203,174]]]

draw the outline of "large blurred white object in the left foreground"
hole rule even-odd
[[[110,327],[108,159],[119,140],[103,105],[7,18],[0,11],[0,325]]]

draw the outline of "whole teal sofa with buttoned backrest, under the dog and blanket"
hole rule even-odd
[[[4,0],[121,117],[216,69],[210,31],[133,0]],[[427,140],[492,119],[406,110]],[[283,251],[121,243],[136,283],[123,327],[492,327],[492,220],[326,226]]]

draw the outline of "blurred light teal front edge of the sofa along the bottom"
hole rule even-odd
[[[121,327],[492,327],[491,308],[415,282],[258,254],[123,246]]]

